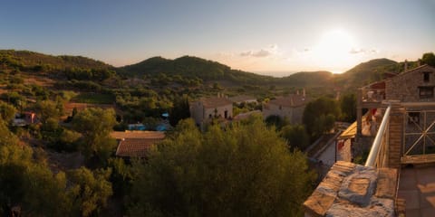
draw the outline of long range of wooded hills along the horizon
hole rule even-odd
[[[409,62],[410,65],[416,64]],[[217,61],[208,61],[193,56],[182,56],[175,60],[152,57],[136,64],[113,67],[102,61],[82,56],[53,56],[39,52],[0,50],[0,69],[2,65],[12,66],[22,71],[63,71],[67,69],[104,69],[115,71],[123,78],[152,78],[156,75],[196,78],[205,82],[222,81],[241,85],[285,85],[294,87],[360,87],[375,80],[381,80],[386,72],[398,73],[403,62],[376,59],[362,62],[342,74],[329,71],[296,72],[283,78],[238,71]]]

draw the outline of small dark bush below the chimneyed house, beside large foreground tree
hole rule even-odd
[[[310,138],[305,131],[303,125],[287,125],[281,128],[281,137],[287,140],[291,148],[298,148],[304,150],[310,143]]]

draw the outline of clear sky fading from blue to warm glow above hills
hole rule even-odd
[[[435,52],[435,0],[1,0],[0,49],[114,66],[190,55],[277,77]]]

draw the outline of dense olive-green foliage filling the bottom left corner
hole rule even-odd
[[[0,214],[90,216],[111,195],[110,172],[80,168],[53,174],[42,149],[22,146],[0,119]],[[16,209],[15,209],[16,208]]]

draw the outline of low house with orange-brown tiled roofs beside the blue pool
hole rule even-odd
[[[158,131],[113,131],[111,137],[116,138],[119,143],[116,149],[116,156],[120,157],[146,157],[150,147],[162,141],[165,133]]]

